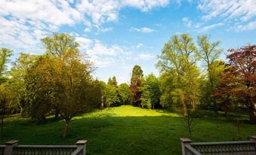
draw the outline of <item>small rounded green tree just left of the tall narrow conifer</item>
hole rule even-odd
[[[123,105],[130,105],[132,99],[131,89],[128,84],[119,85],[120,96],[122,98]]]

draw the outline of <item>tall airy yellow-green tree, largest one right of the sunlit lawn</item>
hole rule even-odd
[[[157,64],[162,73],[171,73],[175,84],[172,92],[177,95],[184,115],[187,115],[187,108],[195,109],[199,102],[200,74],[196,66],[196,51],[193,38],[189,35],[174,35],[162,49]]]

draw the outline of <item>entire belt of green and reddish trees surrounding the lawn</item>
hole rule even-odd
[[[208,35],[174,35],[159,53],[159,77],[144,75],[134,65],[130,84],[118,84],[115,76],[106,84],[93,78],[97,68],[72,36],[54,33],[42,44],[44,54],[20,53],[15,62],[12,50],[0,49],[2,119],[8,114],[39,121],[55,116],[64,120],[63,137],[72,117],[119,105],[167,108],[186,117],[201,110],[224,111],[224,116],[245,110],[256,123],[256,45],[223,51],[221,42]],[[224,52],[227,59],[222,60]]]

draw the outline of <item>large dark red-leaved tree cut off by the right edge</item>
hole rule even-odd
[[[251,123],[256,123],[256,45],[230,49],[229,52],[229,64],[234,68],[233,73],[238,74],[236,82],[242,85],[236,92],[248,108]]]

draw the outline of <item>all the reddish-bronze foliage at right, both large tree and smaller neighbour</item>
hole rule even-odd
[[[230,49],[230,68],[221,74],[221,84],[214,96],[235,96],[245,103],[251,122],[256,122],[256,45]],[[224,99],[224,102],[227,99]],[[230,102],[230,99],[228,99]],[[230,104],[224,104],[229,105]]]

